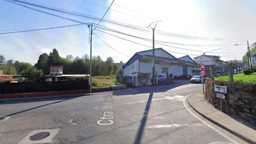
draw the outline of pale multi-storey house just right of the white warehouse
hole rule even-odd
[[[198,64],[204,64],[206,75],[210,74],[210,66],[214,66],[214,74],[225,74],[228,62],[220,60],[220,56],[201,55],[194,57],[194,61]]]

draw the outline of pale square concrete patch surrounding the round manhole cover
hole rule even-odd
[[[59,130],[60,130],[60,128],[46,129],[46,130],[33,130],[25,138],[23,138],[20,142],[18,142],[18,144],[48,144],[48,143],[51,143],[52,139],[58,133]],[[39,132],[50,132],[50,136],[48,136],[42,140],[35,140],[35,141],[30,140],[30,136],[33,136]]]

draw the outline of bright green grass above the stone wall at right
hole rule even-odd
[[[228,76],[218,76],[214,77],[214,79],[228,81]],[[234,82],[256,82],[256,72],[250,75],[245,75],[243,73],[234,74]]]

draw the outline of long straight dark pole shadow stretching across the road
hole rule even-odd
[[[146,105],[146,108],[144,110],[144,114],[143,114],[143,117],[142,117],[142,120],[141,120],[141,123],[140,123],[140,128],[138,130],[138,133],[137,133],[134,144],[140,144],[140,140],[143,136],[144,128],[146,126],[146,122],[147,122],[147,119],[148,119],[148,112],[150,110],[150,104],[151,104],[151,101],[152,101],[152,97],[153,97],[153,93],[150,93],[149,97],[148,97],[148,102],[147,102],[147,105]]]

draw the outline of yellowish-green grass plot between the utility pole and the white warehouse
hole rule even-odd
[[[113,86],[116,83],[116,78],[112,76],[93,76],[92,87]]]

